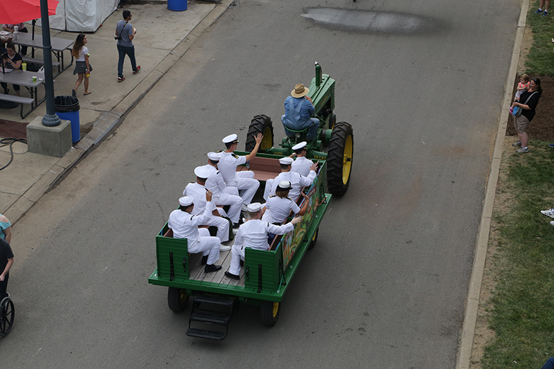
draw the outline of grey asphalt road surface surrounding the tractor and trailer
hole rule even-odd
[[[15,225],[3,367],[454,367],[519,2],[303,9],[321,5],[240,1]],[[360,30],[368,19],[383,26]],[[223,136],[244,143],[267,114],[280,141],[283,100],[314,61],[354,127],[350,188],[276,327],[243,307],[225,341],[190,338],[147,283],[154,235]]]

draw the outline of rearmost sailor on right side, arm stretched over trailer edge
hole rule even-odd
[[[269,243],[267,243],[268,233],[284,235],[291,232],[294,229],[294,224],[298,224],[301,221],[301,217],[296,217],[283,226],[275,226],[260,219],[262,217],[262,204],[255,202],[247,207],[250,219],[238,228],[235,244],[233,244],[233,249],[231,249],[231,267],[229,267],[229,271],[225,272],[227,278],[236,280],[240,279],[240,260],[244,260],[245,248],[251,247],[256,250],[269,250]]]

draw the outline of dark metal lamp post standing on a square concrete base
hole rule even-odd
[[[46,90],[46,115],[42,124],[48,127],[60,125],[60,117],[54,108],[54,74],[52,72],[52,45],[50,44],[50,21],[48,19],[48,1],[40,0],[40,18],[42,20],[42,45],[44,46],[44,89]]]

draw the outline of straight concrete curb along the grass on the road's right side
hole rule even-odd
[[[506,78],[506,84],[504,85],[504,98],[502,101],[497,137],[494,143],[494,152],[492,153],[490,172],[485,190],[483,213],[481,213],[481,224],[479,224],[479,232],[477,233],[477,242],[474,251],[469,291],[465,301],[465,316],[460,334],[460,346],[458,348],[456,369],[470,368],[471,363],[473,337],[475,334],[477,311],[479,309],[479,295],[481,294],[483,271],[485,269],[485,258],[487,255],[494,195],[497,190],[500,163],[502,159],[502,147],[504,145],[506,127],[510,117],[509,109],[510,105],[512,105],[512,86],[517,73],[517,65],[519,63],[519,54],[521,53],[521,42],[524,37],[528,8],[529,0],[524,0],[521,4],[521,12],[519,13],[512,59],[510,61],[510,68],[508,69],[508,77]]]

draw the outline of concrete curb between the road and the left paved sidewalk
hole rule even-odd
[[[108,134],[114,131],[125,119],[125,116],[131,111],[143,97],[161,80],[161,78],[170,71],[173,65],[179,60],[188,49],[193,46],[195,41],[202,35],[212,24],[219,19],[224,12],[235,2],[235,0],[222,0],[217,3],[215,8],[202,19],[186,35],[184,39],[159,62],[148,75],[130,91],[119,103],[102,116],[98,122],[93,125],[91,131],[84,136],[81,141],[67,152],[53,167],[48,170],[33,186],[24,192],[17,201],[15,201],[3,214],[10,219],[12,224],[15,224],[23,217],[30,208],[44,195],[46,192],[56,186],[57,182],[73,168],[86,154],[91,152],[100,144]]]

